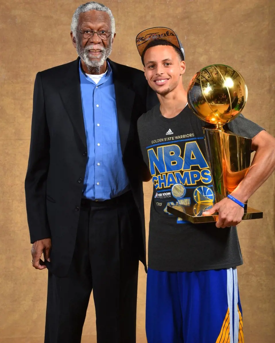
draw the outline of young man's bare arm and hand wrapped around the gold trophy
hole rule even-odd
[[[252,150],[256,151],[248,173],[239,186],[231,193],[241,202],[248,200],[252,194],[268,179],[275,170],[275,138],[262,130],[252,138]],[[219,212],[217,227],[237,225],[241,222],[244,210],[229,198],[216,203],[204,215]]]

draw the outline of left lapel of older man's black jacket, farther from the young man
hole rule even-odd
[[[84,146],[87,148],[78,68],[79,58],[70,64],[68,73],[65,75],[66,84],[59,92],[70,120],[72,121],[73,126]]]

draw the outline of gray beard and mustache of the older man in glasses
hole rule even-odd
[[[89,59],[89,50],[97,49],[102,51],[102,57],[100,60],[90,60]],[[76,42],[76,51],[78,56],[85,62],[88,70],[91,72],[100,72],[100,67],[103,66],[104,62],[107,60],[107,58],[111,55],[112,52],[112,43],[110,43],[110,46],[108,48],[104,48],[101,45],[97,44],[91,44],[87,45],[85,48],[81,46],[79,42]]]

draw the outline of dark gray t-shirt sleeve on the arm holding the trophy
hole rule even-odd
[[[231,132],[246,138],[253,138],[256,134],[264,130],[264,128],[245,118],[242,114],[230,121],[227,125]]]

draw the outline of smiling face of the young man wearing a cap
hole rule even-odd
[[[173,46],[156,45],[144,54],[144,72],[149,86],[158,94],[165,96],[178,85],[185,72],[185,62]]]

